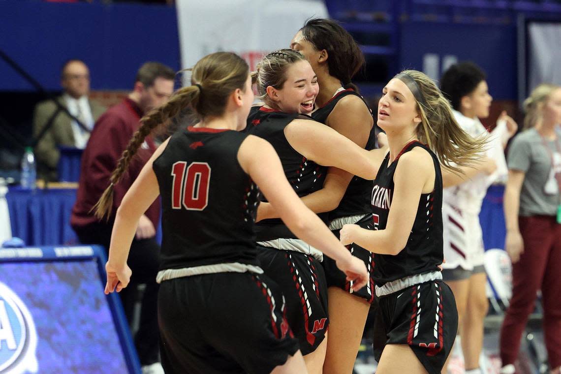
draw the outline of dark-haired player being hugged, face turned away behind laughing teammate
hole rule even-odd
[[[318,75],[320,91],[315,121],[325,123],[357,145],[375,148],[372,113],[351,79],[364,66],[360,47],[336,21],[312,19],[291,41],[291,48],[310,61]],[[330,168],[325,188],[306,196],[303,201],[315,213],[329,212],[335,236],[346,223],[356,223],[371,213],[372,184],[341,169]],[[364,261],[369,274],[374,256],[364,248],[353,247],[352,255]],[[374,280],[355,291],[328,256],[321,263],[325,270],[329,297],[329,339],[323,372],[350,373],[355,364],[370,304],[374,301]]]

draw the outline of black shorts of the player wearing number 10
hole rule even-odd
[[[158,294],[166,373],[270,373],[298,350],[279,287],[265,275],[165,280]]]

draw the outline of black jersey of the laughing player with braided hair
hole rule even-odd
[[[277,154],[294,191],[299,197],[321,190],[327,168],[307,160],[286,140],[284,128],[296,118],[309,118],[298,113],[284,113],[264,107],[251,108],[247,117],[246,132],[268,141]],[[326,220],[327,214],[320,215]],[[255,225],[257,241],[278,238],[296,238],[280,219],[266,219]]]

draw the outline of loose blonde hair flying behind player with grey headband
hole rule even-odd
[[[420,103],[415,98],[421,117],[421,123],[417,126],[419,140],[428,144],[440,164],[453,172],[460,173],[460,166],[473,165],[479,158],[485,141],[473,138],[462,130],[454,118],[449,101],[444,98],[433,80],[416,70],[405,70],[401,73],[415,81],[424,100],[424,103]]]

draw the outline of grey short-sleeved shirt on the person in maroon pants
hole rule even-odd
[[[557,186],[557,181],[551,181],[554,175],[551,173],[551,155],[555,159],[555,172],[561,172],[561,155],[558,155],[555,144],[559,138],[561,136],[558,133],[557,140],[546,141],[551,152],[546,149],[544,140],[535,128],[520,133],[512,141],[508,151],[508,168],[526,173],[520,192],[519,215],[557,214],[559,191],[546,193],[544,187],[548,180],[550,186],[553,182]]]

